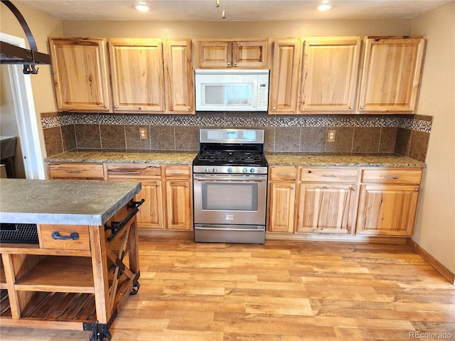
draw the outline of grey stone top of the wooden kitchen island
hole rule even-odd
[[[136,182],[0,179],[0,222],[102,225],[140,190]]]

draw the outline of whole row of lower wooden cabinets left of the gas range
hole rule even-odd
[[[50,179],[138,181],[142,190],[134,201],[145,200],[137,213],[141,229],[193,229],[193,190],[189,164],[50,163]]]

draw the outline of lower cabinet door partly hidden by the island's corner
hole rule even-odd
[[[126,181],[126,180],[125,180]],[[132,181],[132,180],[130,180]],[[142,190],[134,200],[144,199],[137,213],[137,227],[147,229],[164,229],[163,224],[163,193],[161,180],[141,180]]]

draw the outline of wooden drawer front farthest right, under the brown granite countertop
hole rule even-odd
[[[363,183],[402,183],[419,185],[422,181],[422,169],[364,169]]]

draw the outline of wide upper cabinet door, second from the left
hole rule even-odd
[[[159,39],[110,39],[115,111],[164,112],[163,48]]]

